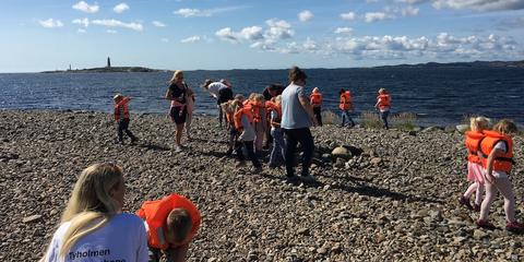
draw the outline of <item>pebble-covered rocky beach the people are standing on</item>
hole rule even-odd
[[[226,156],[226,132],[195,117],[193,140],[174,147],[174,124],[132,115],[135,145],[114,143],[112,116],[87,111],[0,111],[0,261],[37,261],[76,176],[91,164],[123,167],[126,211],[176,192],[203,215],[188,261],[522,261],[524,235],[495,230],[458,205],[466,190],[463,134],[313,128],[314,184],[284,182],[282,168],[252,174]],[[511,174],[524,221],[523,139]],[[337,154],[333,150],[338,146]],[[264,160],[265,162],[265,160]]]

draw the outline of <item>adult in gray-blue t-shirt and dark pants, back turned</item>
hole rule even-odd
[[[302,70],[293,67],[289,70],[290,84],[282,93],[281,127],[286,140],[284,158],[288,182],[297,181],[294,167],[297,143],[300,143],[303,150],[301,178],[307,182],[314,181],[314,177],[309,174],[314,150],[314,141],[309,128],[317,124],[317,119],[305,91],[306,79],[307,75]]]

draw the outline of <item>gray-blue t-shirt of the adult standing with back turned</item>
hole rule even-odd
[[[308,112],[300,104],[299,97],[309,100],[303,86],[289,84],[282,93],[282,122],[283,129],[301,129],[312,126]]]

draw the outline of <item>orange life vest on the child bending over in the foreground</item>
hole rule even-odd
[[[191,216],[192,227],[188,238],[181,243],[186,245],[196,235],[200,228],[201,216],[196,206],[179,194],[170,194],[160,200],[146,201],[142,207],[136,211],[136,215],[147,224],[147,245],[153,248],[166,250],[170,247],[167,242],[166,221],[174,209],[183,209]]]

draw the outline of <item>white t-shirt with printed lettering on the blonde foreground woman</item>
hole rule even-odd
[[[129,213],[115,215],[105,226],[80,238],[60,258],[63,235],[70,222],[62,224],[52,236],[46,262],[121,261],[147,262],[147,234],[144,222]]]

